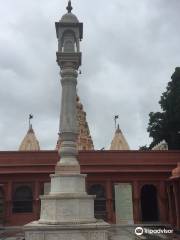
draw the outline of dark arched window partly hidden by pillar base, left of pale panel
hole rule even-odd
[[[96,195],[94,213],[97,219],[106,220],[106,192],[101,184],[95,184],[88,189],[89,195]]]

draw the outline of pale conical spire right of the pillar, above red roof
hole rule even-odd
[[[121,129],[118,128],[116,129],[115,136],[111,142],[111,147],[110,150],[130,150],[129,145],[121,132]]]

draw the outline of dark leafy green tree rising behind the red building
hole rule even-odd
[[[162,112],[149,114],[150,148],[165,139],[169,149],[180,149],[180,67],[175,69],[159,104]]]

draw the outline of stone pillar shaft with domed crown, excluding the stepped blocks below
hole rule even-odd
[[[76,85],[78,68],[81,65],[79,42],[83,37],[83,24],[71,13],[68,3],[68,13],[56,22],[58,38],[57,63],[60,67],[62,97],[60,115],[59,150],[60,161],[56,165],[56,173],[78,174],[80,166],[77,161],[77,116],[76,116]]]

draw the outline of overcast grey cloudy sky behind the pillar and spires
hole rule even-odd
[[[159,110],[180,66],[179,0],[73,0],[84,23],[78,93],[96,149],[109,148],[113,116],[131,149],[149,144],[148,114]],[[54,22],[67,0],[0,0],[0,150],[16,150],[34,115],[41,149],[54,149],[61,88]]]

